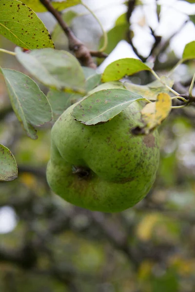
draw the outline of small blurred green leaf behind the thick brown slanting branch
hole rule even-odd
[[[53,2],[53,3],[55,3],[55,2]],[[72,20],[77,16],[78,16],[78,14],[75,11],[70,10],[70,11],[67,11],[67,12],[63,13],[61,15],[61,18],[66,22],[66,24],[68,26],[70,26]],[[62,42],[62,41],[65,42],[64,39],[65,40],[67,39],[67,37],[64,34],[64,32],[63,32],[61,26],[59,25],[59,23],[57,23],[55,25],[55,27],[54,27],[54,30],[52,32],[52,39],[55,42],[55,44],[56,44],[58,39],[60,39],[60,42]]]

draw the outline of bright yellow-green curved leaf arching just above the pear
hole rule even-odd
[[[102,74],[101,81],[108,82],[119,80],[125,75],[132,75],[143,70],[151,71],[151,69],[147,65],[145,65],[138,59],[134,58],[119,59],[106,67],[104,73]]]

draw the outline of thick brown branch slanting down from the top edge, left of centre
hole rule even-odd
[[[83,66],[96,69],[96,64],[88,48],[73,34],[66,22],[62,19],[61,14],[51,4],[49,0],[39,0],[45,8],[56,18],[65,35],[69,40],[69,49],[75,53],[76,58]]]

